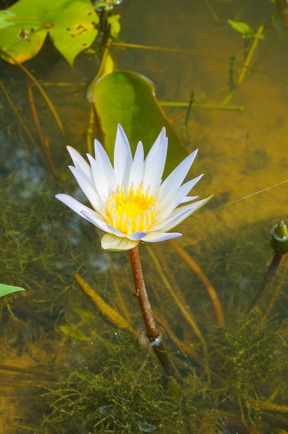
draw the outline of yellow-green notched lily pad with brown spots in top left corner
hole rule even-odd
[[[49,33],[71,65],[95,40],[99,21],[90,0],[19,0],[0,19],[0,46],[17,62],[33,58]]]

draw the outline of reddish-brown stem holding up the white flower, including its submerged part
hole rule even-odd
[[[150,345],[153,348],[154,353],[158,357],[159,362],[163,366],[166,374],[168,376],[173,376],[176,381],[182,383],[182,377],[172,363],[168,352],[165,350],[165,347],[161,340],[161,336],[159,335],[159,332],[156,328],[143,277],[138,245],[129,250],[129,258],[134,279],[134,286],[136,290],[135,295],[138,299],[138,303],[141,309],[147,339],[149,340]]]

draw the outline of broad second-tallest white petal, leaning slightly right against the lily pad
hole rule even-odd
[[[165,128],[157,137],[144,162],[143,189],[150,187],[150,194],[154,194],[161,183],[168,149],[168,138]]]

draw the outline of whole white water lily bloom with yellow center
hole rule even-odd
[[[181,236],[179,232],[168,231],[212,196],[187,204],[198,197],[187,195],[203,176],[181,185],[197,150],[162,182],[167,148],[168,138],[162,128],[147,157],[144,159],[143,145],[139,141],[133,158],[120,125],[116,134],[114,167],[98,140],[95,140],[96,158],[87,154],[90,165],[77,150],[67,146],[75,164],[69,168],[93,209],[66,194],[57,194],[56,198],[106,232],[101,240],[103,249],[129,250],[140,241],[154,243]]]

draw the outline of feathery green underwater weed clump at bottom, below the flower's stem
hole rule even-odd
[[[203,421],[217,424],[217,411],[192,370],[184,397],[177,383],[163,379],[152,358],[143,363],[135,340],[118,353],[111,352],[109,338],[103,344],[109,365],[99,361],[88,370],[70,370],[66,381],[44,394],[51,414],[38,434],[197,433]],[[87,362],[94,357],[95,349],[87,348]]]

